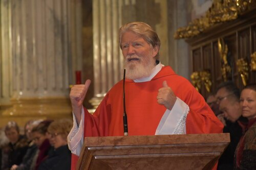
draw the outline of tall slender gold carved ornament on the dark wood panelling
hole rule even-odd
[[[222,61],[221,74],[224,82],[226,82],[227,74],[231,72],[231,67],[228,65],[228,62],[227,62],[228,47],[227,47],[227,44],[225,44],[223,38],[218,39],[218,50],[219,50],[221,61]]]

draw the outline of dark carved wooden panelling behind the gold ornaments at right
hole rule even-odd
[[[211,74],[212,91],[223,82],[222,59],[218,50],[218,39],[223,38],[228,46],[227,61],[231,67],[228,80],[232,80],[242,89],[244,87],[238,72],[237,61],[244,58],[248,63],[249,78],[247,84],[256,83],[256,71],[250,70],[250,55],[256,51],[256,13],[251,11],[243,17],[206,30],[204,33],[189,38],[186,41],[190,45],[193,71],[208,69]],[[209,92],[202,83],[200,93],[206,98]]]

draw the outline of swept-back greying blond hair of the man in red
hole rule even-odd
[[[119,29],[119,46],[121,49],[122,35],[127,31],[132,31],[135,34],[140,35],[148,44],[152,45],[153,47],[158,46],[160,48],[160,39],[152,27],[144,22],[130,22],[126,23]],[[159,60],[159,50],[155,58],[156,60]]]

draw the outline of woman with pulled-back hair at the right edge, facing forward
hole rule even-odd
[[[234,156],[235,169],[256,169],[256,84],[246,86],[240,96],[242,115],[247,124],[240,123],[243,129]]]

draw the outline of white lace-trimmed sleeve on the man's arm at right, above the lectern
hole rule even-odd
[[[166,109],[164,112],[155,135],[186,134],[188,112],[188,105],[177,98],[172,110]]]

